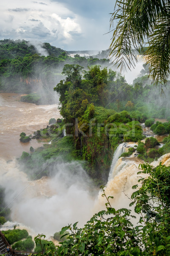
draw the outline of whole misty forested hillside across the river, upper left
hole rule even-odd
[[[49,43],[5,39],[0,41],[0,92],[31,94],[24,101],[37,104],[58,102],[54,87],[65,76],[65,64],[110,68],[106,58],[70,55]],[[35,94],[36,92],[36,94]],[[32,94],[34,93],[34,94]]]

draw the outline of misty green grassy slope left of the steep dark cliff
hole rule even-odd
[[[54,133],[51,130],[52,136],[49,137],[52,140],[51,144],[44,144],[44,147],[35,149],[31,154],[23,152],[19,159],[20,163],[25,166],[24,172],[31,179],[39,179],[42,176],[49,175],[52,166],[59,157],[65,162],[79,160],[78,152],[74,145],[74,138],[60,137],[60,132],[58,134],[58,131],[56,131],[56,125],[51,126],[55,128],[53,130]],[[22,166],[21,168],[23,170]]]

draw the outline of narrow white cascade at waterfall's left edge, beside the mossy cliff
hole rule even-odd
[[[111,163],[111,169],[110,169],[110,172],[109,172],[108,180],[113,179],[113,177],[117,174],[118,170],[116,168],[116,163],[117,163],[119,157],[121,156],[121,154],[125,152],[126,145],[127,145],[127,143],[121,143],[116,148],[116,151],[113,154],[113,160],[112,160],[112,163]]]

